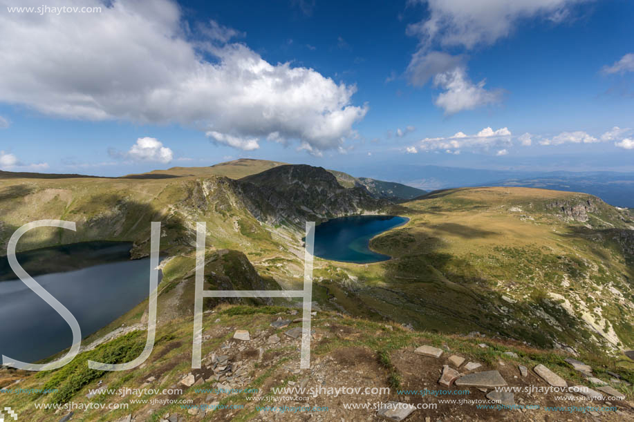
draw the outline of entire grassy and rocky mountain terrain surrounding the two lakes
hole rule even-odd
[[[320,208],[323,204],[327,205],[324,209]],[[34,401],[131,403],[130,396],[118,394],[88,399],[88,389],[100,379],[112,389],[178,387],[192,372],[195,222],[207,222],[205,289],[290,289],[299,287],[304,271],[302,219],[376,212],[385,204],[365,188],[344,189],[334,175],[310,166],[274,166],[240,180],[215,175],[0,180],[3,247],[21,224],[55,218],[77,222],[77,232],[38,229],[21,240],[20,249],[128,240],[134,242],[136,256],[142,256],[147,253],[149,222],[162,221],[161,251],[169,256],[163,263],[156,347],[147,365],[123,374],[95,372],[85,365],[88,358],[115,363],[138,355],[144,332],[136,329],[143,327],[139,323],[145,318],[146,302],[89,336],[84,345],[115,329],[123,334],[88,347],[73,365],[38,375],[1,370],[0,387],[21,380],[21,388],[58,389],[46,397],[3,396],[8,397],[3,405],[19,410],[25,420],[46,421],[52,412],[36,410]],[[214,308],[220,302],[236,305],[238,301],[207,299],[209,314],[203,328],[207,366],[193,371],[202,381],[184,388],[182,398],[194,404],[244,405],[243,409],[203,416],[189,414],[176,403],[131,403],[126,411],[90,411],[82,413],[82,418],[113,421],[133,414],[137,421],[160,421],[165,414],[176,413],[189,420],[270,420],[266,419],[270,414],[257,412],[249,394],[196,392],[198,387],[220,386],[209,369],[212,354],[226,354],[236,370],[243,368],[236,378],[220,380],[223,386],[257,387],[262,394],[270,394],[270,387],[304,380],[310,386],[324,382],[393,389],[400,385],[407,390],[436,386],[438,370],[449,353],[441,360],[413,354],[413,348],[422,344],[499,370],[510,385],[545,385],[532,372],[529,378],[514,378],[518,363],[530,368],[543,363],[568,381],[587,385],[563,361],[567,356],[583,359],[605,381],[610,380],[607,370],[634,381],[634,362],[619,353],[634,347],[634,218],[628,210],[581,193],[493,187],[434,192],[391,211],[409,217],[409,223],[377,236],[371,247],[393,259],[369,265],[315,259],[313,300],[318,313],[310,371],[295,372],[298,341],[285,336],[285,330],[270,327],[273,320],[286,317],[292,301],[248,300],[239,307]],[[247,306],[258,304],[268,306]],[[232,341],[235,329],[249,329],[252,341]],[[465,336],[469,332],[481,332],[486,338]],[[281,340],[270,343],[272,334]],[[631,398],[627,387],[615,387]],[[472,390],[471,398],[483,399],[481,392]],[[552,396],[517,397],[526,404],[559,405]],[[167,397],[150,394],[144,398]],[[393,390],[377,401],[389,399],[404,400],[403,394]],[[413,395],[410,400],[437,398]],[[319,396],[310,404],[336,409],[321,414],[326,421],[359,420],[372,413],[344,411],[342,403],[365,401],[362,396]],[[602,417],[631,418],[631,405],[617,405],[622,413],[606,412]],[[447,414],[454,419],[487,420],[499,413],[445,405],[434,412],[417,412],[411,420]],[[549,415],[531,411],[508,417],[547,420]],[[62,416],[57,414],[55,419]],[[590,417],[565,416],[572,420]]]

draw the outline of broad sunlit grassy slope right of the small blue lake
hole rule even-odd
[[[627,211],[524,188],[442,191],[403,205],[411,221],[371,242],[393,260],[320,261],[320,286],[342,309],[570,352],[634,345]]]

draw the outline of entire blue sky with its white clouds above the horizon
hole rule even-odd
[[[0,0],[0,169],[634,171],[631,1],[28,3]]]

